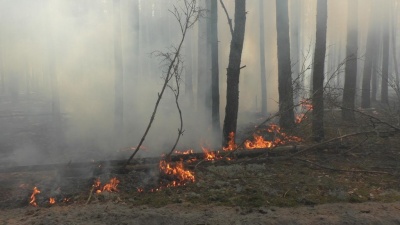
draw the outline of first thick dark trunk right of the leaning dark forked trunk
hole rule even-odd
[[[288,0],[276,0],[276,30],[278,44],[279,125],[294,127],[293,87],[290,63]]]

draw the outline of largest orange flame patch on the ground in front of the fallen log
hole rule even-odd
[[[188,182],[194,182],[195,177],[193,172],[186,170],[183,166],[183,162],[176,162],[175,165],[167,163],[165,160],[161,160],[159,164],[160,172],[166,175],[173,176],[176,180],[167,184],[167,187],[176,187],[186,185]]]

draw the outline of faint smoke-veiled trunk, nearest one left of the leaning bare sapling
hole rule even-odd
[[[114,128],[116,137],[120,137],[124,119],[124,86],[121,42],[121,1],[114,0],[114,72],[115,72],[115,102]]]

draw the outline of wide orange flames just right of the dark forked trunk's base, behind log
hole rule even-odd
[[[296,136],[287,135],[285,132],[281,131],[281,128],[276,124],[270,124],[267,128],[268,133],[274,134],[273,141],[264,140],[264,138],[260,135],[254,134],[253,141],[246,140],[244,142],[244,146],[247,149],[255,149],[255,148],[273,148],[280,144],[285,144],[287,142],[300,142],[301,138]]]

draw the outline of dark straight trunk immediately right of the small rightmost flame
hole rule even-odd
[[[314,140],[324,138],[324,65],[326,53],[327,0],[317,1],[317,29],[313,71],[312,133]]]

